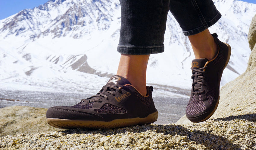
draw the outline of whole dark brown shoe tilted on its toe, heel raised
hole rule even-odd
[[[218,107],[220,99],[220,79],[229,62],[231,47],[219,41],[217,34],[212,34],[218,44],[218,53],[212,59],[194,59],[192,61],[192,89],[186,116],[191,122],[203,122],[209,119]]]

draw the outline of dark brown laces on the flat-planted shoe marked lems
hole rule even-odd
[[[105,86],[103,86],[101,88],[101,90],[96,95],[93,95],[90,98],[82,99],[82,102],[86,102],[86,103],[89,103],[89,102],[102,102],[100,100],[102,97],[106,98],[106,100],[108,100],[108,95],[111,94],[111,95],[115,96],[115,94],[114,94],[115,91],[118,91],[119,93],[122,94],[122,91],[120,89],[122,87],[123,87],[123,85],[118,85],[118,84],[115,84],[115,85],[105,85]]]

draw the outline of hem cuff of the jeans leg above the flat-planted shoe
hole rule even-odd
[[[164,45],[161,46],[117,46],[117,52],[126,55],[150,55],[164,52]]]

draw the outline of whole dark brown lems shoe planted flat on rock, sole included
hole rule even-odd
[[[67,107],[47,110],[47,123],[56,128],[117,128],[150,124],[157,120],[158,111],[152,99],[152,86],[142,96],[122,76],[113,76],[94,96]]]

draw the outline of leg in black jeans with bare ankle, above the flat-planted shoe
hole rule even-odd
[[[122,7],[120,41],[122,55],[117,74],[146,94],[146,68],[150,54],[164,51],[169,0],[120,0]]]

